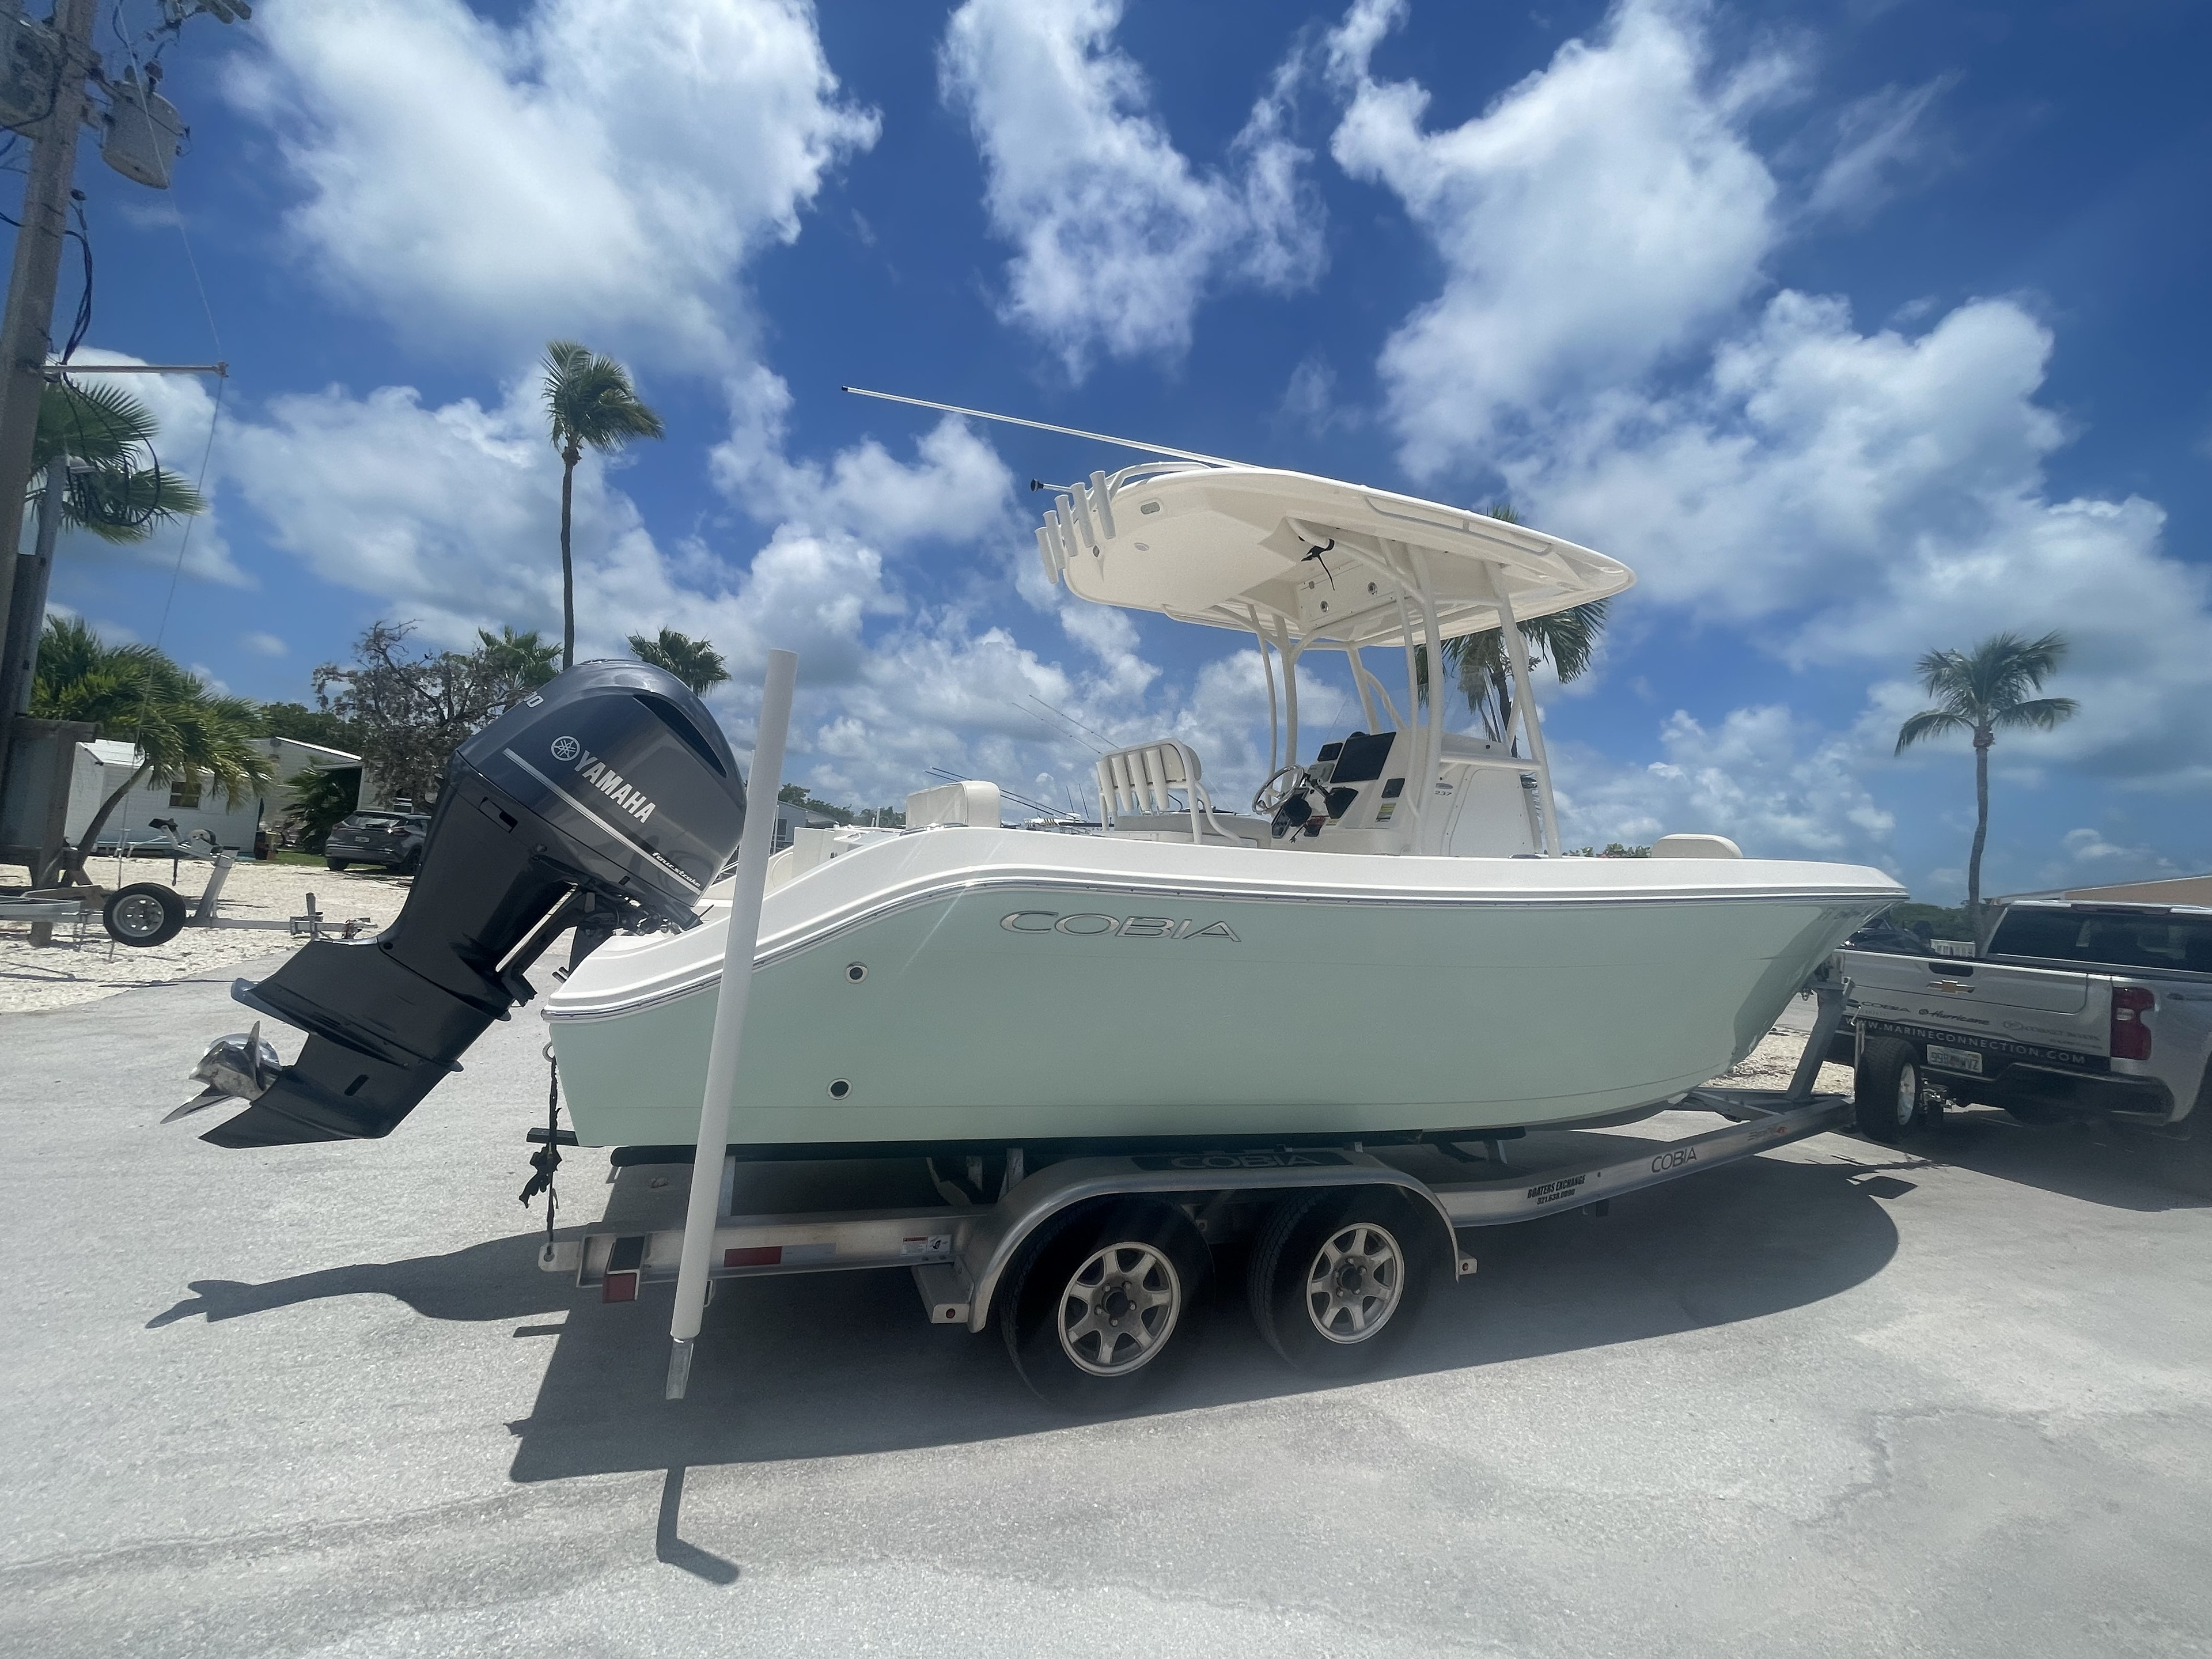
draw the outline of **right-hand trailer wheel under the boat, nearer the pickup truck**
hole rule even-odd
[[[1285,1199],[1245,1276],[1261,1336],[1312,1376],[1380,1365],[1411,1334],[1436,1279],[1436,1228],[1398,1192]]]

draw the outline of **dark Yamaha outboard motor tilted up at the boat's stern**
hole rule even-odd
[[[217,1146],[389,1135],[493,1020],[564,927],[690,927],[745,825],[714,717],[670,672],[591,661],[453,754],[414,891],[392,927],[310,940],[230,995],[299,1026],[299,1060],[208,1130]]]

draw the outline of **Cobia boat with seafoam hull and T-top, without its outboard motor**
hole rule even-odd
[[[1037,1146],[1407,1137],[1617,1119],[1708,1082],[1898,896],[1874,869],[1719,838],[1559,856],[1531,754],[1449,732],[1367,661],[1624,591],[1553,535],[1303,473],[1146,462],[1064,491],[1044,568],[1099,604],[1232,628],[1283,743],[1250,812],[1188,745],[1099,759],[1095,834],[1002,827],[993,785],[905,832],[776,854],[732,1135]],[[1347,657],[1365,726],[1298,763],[1298,664]],[[1533,706],[1515,655],[1517,710]],[[1400,701],[1402,699],[1402,701]],[[1511,737],[1511,734],[1509,734]],[[1714,856],[1721,854],[1721,856]],[[690,1139],[728,900],[611,940],[546,998],[586,1146]]]

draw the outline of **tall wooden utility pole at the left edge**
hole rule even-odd
[[[31,159],[22,186],[22,228],[15,232],[15,270],[0,316],[0,639],[9,637],[15,597],[15,546],[22,542],[22,498],[31,487],[31,447],[38,405],[46,394],[46,354],[53,336],[53,288],[62,272],[62,234],[69,230],[69,190],[77,173],[77,131],[84,126],[84,80],[93,53],[95,0],[58,0],[53,33],[60,60],[53,108],[31,126]],[[0,710],[4,723],[15,710]],[[7,734],[0,732],[0,743]]]

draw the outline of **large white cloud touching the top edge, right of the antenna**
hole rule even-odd
[[[1725,316],[1776,237],[1774,177],[1743,119],[1774,60],[1721,73],[1688,13],[1628,0],[1590,42],[1451,131],[1429,91],[1374,77],[1405,0],[1358,0],[1329,35],[1347,97],[1332,139],[1389,188],[1444,263],[1442,292],[1383,347],[1416,476],[1486,462],[1542,405],[1632,380]]]

